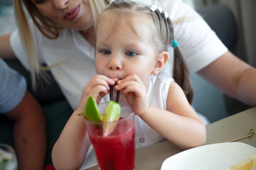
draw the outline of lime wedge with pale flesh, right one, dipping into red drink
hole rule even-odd
[[[117,126],[119,117],[121,115],[121,106],[119,103],[110,101],[107,103],[107,107],[105,108],[103,122],[107,122],[103,124],[103,136],[110,135],[110,133]]]

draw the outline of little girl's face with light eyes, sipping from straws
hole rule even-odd
[[[156,63],[151,30],[143,20],[133,26],[126,21],[117,26],[114,20],[113,16],[104,16],[97,23],[97,74],[117,79],[136,74],[147,86]]]

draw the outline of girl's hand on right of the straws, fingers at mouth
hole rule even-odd
[[[121,90],[121,93],[127,102],[133,106],[137,115],[142,115],[149,108],[146,86],[137,75],[132,74],[125,79],[117,81],[115,89]]]

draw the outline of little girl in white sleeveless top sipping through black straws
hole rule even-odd
[[[131,104],[136,113],[137,149],[164,139],[182,149],[206,143],[206,127],[188,103],[192,91],[186,64],[170,18],[161,8],[138,1],[112,1],[97,18],[96,37],[97,75],[85,85],[77,111],[84,111],[89,96],[97,103],[107,101],[109,86],[117,83],[114,89],[121,91],[119,100]],[[168,60],[169,45],[177,66],[174,77],[183,81],[183,89],[172,78],[154,80]],[[91,159],[89,147],[85,120],[74,112],[53,147],[55,168],[78,169],[87,154],[85,162]]]

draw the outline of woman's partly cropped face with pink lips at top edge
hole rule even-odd
[[[87,0],[29,0],[38,11],[64,28],[85,30],[92,26],[92,12]]]

